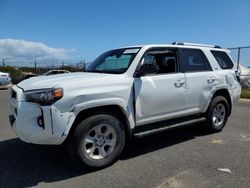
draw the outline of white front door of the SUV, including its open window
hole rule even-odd
[[[179,72],[177,52],[150,50],[141,64],[154,63],[159,71],[135,78],[136,125],[183,116],[186,113],[186,79]]]

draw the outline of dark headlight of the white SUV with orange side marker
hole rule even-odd
[[[38,89],[25,91],[27,102],[38,103],[41,106],[51,105],[63,97],[62,88]]]

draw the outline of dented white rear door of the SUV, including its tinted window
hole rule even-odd
[[[180,59],[180,69],[186,77],[187,107],[192,112],[199,113],[210,99],[218,78],[202,50],[182,48]]]

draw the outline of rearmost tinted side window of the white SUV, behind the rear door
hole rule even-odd
[[[222,69],[233,68],[234,64],[226,52],[211,50],[211,53]]]

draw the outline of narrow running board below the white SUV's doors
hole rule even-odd
[[[164,124],[167,124],[167,125],[161,126],[161,127],[158,126],[155,129],[145,130],[145,131],[141,131],[141,132],[135,132],[133,134],[133,136],[134,136],[134,138],[141,138],[141,137],[149,136],[149,135],[152,135],[152,134],[155,134],[155,133],[161,133],[161,132],[167,131],[169,129],[173,129],[173,128],[177,128],[177,127],[183,127],[183,126],[196,124],[196,123],[201,123],[201,122],[204,122],[204,121],[206,121],[206,118],[201,117],[201,118],[198,118],[198,119],[191,119],[191,120],[184,121],[184,122],[172,123],[170,125],[168,125],[167,123],[164,123]]]

